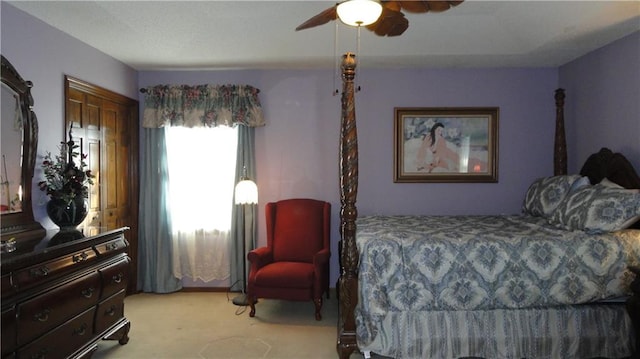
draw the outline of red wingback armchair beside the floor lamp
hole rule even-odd
[[[321,320],[322,294],[329,298],[331,204],[294,198],[267,203],[267,246],[247,254],[247,298],[255,316],[258,298],[313,300]]]

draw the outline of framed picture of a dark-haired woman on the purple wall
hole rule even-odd
[[[497,107],[394,112],[394,182],[498,182]]]

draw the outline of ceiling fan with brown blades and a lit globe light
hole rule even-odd
[[[449,10],[453,6],[457,6],[464,0],[459,1],[375,1],[375,0],[346,0],[332,6],[318,15],[305,21],[296,28],[296,31],[324,25],[329,21],[341,19],[347,25],[358,26],[363,25],[367,29],[373,31],[378,36],[398,36],[401,35],[409,27],[409,20],[404,16],[402,10],[408,13],[426,13],[426,12],[442,12]],[[351,5],[352,3],[379,3],[382,5],[382,13],[379,17],[374,18],[371,23],[348,23],[340,14],[342,5]],[[377,5],[376,5],[377,6]],[[360,14],[363,12],[360,11]],[[377,20],[376,20],[377,19]]]

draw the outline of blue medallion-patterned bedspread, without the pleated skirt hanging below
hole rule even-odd
[[[357,220],[361,310],[535,308],[627,294],[640,231],[590,235],[532,216]]]

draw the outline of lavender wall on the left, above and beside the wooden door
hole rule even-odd
[[[55,153],[64,140],[65,75],[137,98],[138,75],[131,67],[5,1],[0,1],[0,13],[0,51],[25,80],[33,82],[34,112],[40,125],[38,155]],[[47,217],[44,192],[35,185],[42,178],[39,162],[32,186],[34,216],[45,228],[57,228]]]

